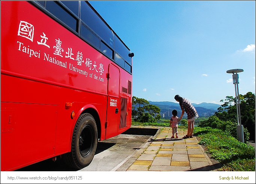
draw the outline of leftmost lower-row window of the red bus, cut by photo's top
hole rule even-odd
[[[71,29],[78,32],[78,20],[66,12],[59,4],[54,1],[46,1],[46,10],[51,12]]]

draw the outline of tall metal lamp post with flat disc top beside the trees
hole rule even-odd
[[[237,105],[237,138],[240,142],[244,143],[244,131],[243,125],[241,125],[241,112],[240,112],[240,102],[239,102],[239,91],[238,91],[238,84],[239,84],[239,77],[238,73],[244,71],[243,69],[232,69],[226,71],[227,73],[232,73],[233,84],[235,85],[235,102]]]

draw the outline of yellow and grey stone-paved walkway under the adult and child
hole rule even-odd
[[[171,138],[172,129],[164,127],[142,153],[137,151],[132,156],[135,161],[126,171],[217,171],[195,137],[182,138],[186,134],[186,130],[178,129],[179,138]]]

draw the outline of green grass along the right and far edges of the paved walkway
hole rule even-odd
[[[164,126],[169,123],[132,122],[138,126]],[[179,126],[180,129],[188,127]],[[213,159],[222,163],[220,171],[255,171],[255,149],[251,145],[239,142],[219,129],[195,127],[193,133],[200,139],[199,144],[205,145]]]

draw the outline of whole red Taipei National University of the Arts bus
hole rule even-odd
[[[132,56],[87,1],[1,1],[1,171],[88,166],[131,126]]]

